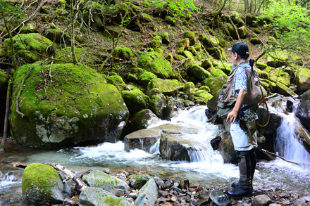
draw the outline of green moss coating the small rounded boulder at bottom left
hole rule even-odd
[[[34,197],[39,200],[53,200],[53,190],[61,183],[61,176],[49,165],[34,163],[27,165],[23,172],[22,191],[24,198]],[[30,198],[31,202],[32,198]]]

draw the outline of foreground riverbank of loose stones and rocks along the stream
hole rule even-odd
[[[39,174],[34,174],[39,169]],[[254,187],[254,192],[246,198],[228,198],[225,191],[227,185],[211,187],[192,184],[180,176],[169,178],[156,176],[147,171],[112,173],[109,169],[89,170],[77,174],[89,187],[81,193],[72,179],[65,184],[53,184],[54,187],[42,182],[60,181],[68,176],[51,180],[44,172],[51,172],[50,166],[42,164],[28,165],[23,174],[23,197],[28,203],[54,205],[310,205],[310,194],[297,194],[284,191],[263,190]],[[54,170],[56,172],[56,170]],[[35,181],[33,179],[35,178]],[[31,185],[28,183],[32,182]],[[36,182],[40,184],[35,185]],[[57,186],[56,186],[57,185]],[[42,187],[46,186],[44,189]],[[41,188],[37,190],[37,188]]]

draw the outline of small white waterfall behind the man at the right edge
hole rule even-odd
[[[298,120],[294,117],[294,113],[282,114],[282,116],[282,124],[277,129],[275,149],[286,160],[310,165],[310,154],[298,141],[299,135],[296,133],[297,127],[300,125]]]

